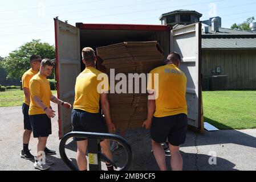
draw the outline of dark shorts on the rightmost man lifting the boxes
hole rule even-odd
[[[153,117],[151,138],[157,143],[164,143],[166,139],[172,146],[185,143],[188,117],[186,114],[171,115],[168,117]]]

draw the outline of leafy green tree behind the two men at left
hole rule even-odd
[[[9,56],[2,61],[7,77],[21,79],[23,73],[30,68],[29,59],[31,55],[40,55],[42,59],[55,59],[55,47],[34,39],[23,44],[17,50],[9,53]],[[53,75],[50,78],[52,77]]]

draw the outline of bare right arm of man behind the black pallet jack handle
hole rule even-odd
[[[111,120],[107,93],[100,94],[100,103],[101,103],[101,108],[103,110],[103,113],[105,115],[105,121],[107,123],[108,129],[111,133],[113,133],[115,132],[116,127]]]

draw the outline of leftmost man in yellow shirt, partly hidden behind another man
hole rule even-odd
[[[30,105],[30,90],[29,82],[30,79],[39,72],[40,63],[42,61],[41,56],[32,55],[30,56],[30,69],[24,73],[22,76],[22,89],[24,91],[24,103],[22,105],[23,113],[23,122],[24,122],[24,133],[23,133],[23,150],[21,151],[21,158],[32,160],[34,156],[31,155],[29,150],[29,141],[32,133],[31,122],[29,119],[29,105]],[[52,155],[55,154],[55,151],[52,151],[46,147],[46,154]]]

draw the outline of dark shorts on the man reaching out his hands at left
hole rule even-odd
[[[51,119],[46,114],[30,115],[34,138],[51,135]]]

